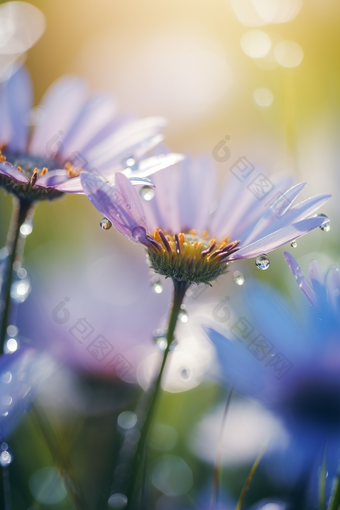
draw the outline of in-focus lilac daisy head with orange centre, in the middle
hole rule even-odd
[[[143,163],[141,167],[145,172]],[[124,172],[117,175],[114,187],[86,173],[81,182],[98,211],[119,232],[147,248],[157,273],[187,283],[215,280],[229,261],[262,257],[328,221],[309,216],[330,195],[293,205],[306,183],[290,187],[287,178],[276,185],[277,200],[264,209],[244,183],[230,177],[210,214],[216,171],[205,159],[186,160],[153,176],[156,196],[144,204]],[[259,264],[264,260],[268,259],[261,258]]]

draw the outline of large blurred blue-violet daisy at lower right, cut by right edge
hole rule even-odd
[[[290,445],[280,460],[279,454],[272,459],[271,473],[296,484],[292,497],[300,506],[294,508],[317,508],[326,447],[327,497],[340,458],[340,269],[331,267],[324,276],[313,260],[309,281],[289,253],[285,258],[313,305],[305,308],[307,316],[300,311],[296,317],[273,290],[250,285],[246,314],[242,309],[229,331],[216,323],[205,330],[217,349],[222,380],[260,400],[289,432]]]

